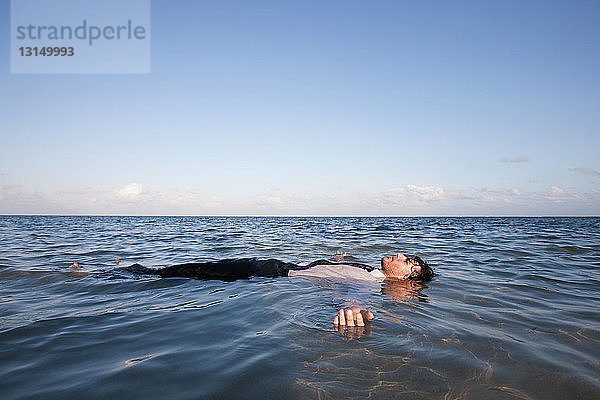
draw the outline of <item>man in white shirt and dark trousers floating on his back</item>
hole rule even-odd
[[[310,264],[287,263],[275,259],[256,258],[227,259],[201,263],[177,264],[160,269],[150,269],[133,264],[127,270],[134,273],[159,275],[162,278],[186,277],[194,279],[218,279],[233,281],[253,276],[281,277],[304,276],[363,282],[418,281],[426,282],[433,277],[431,267],[418,256],[407,257],[398,253],[381,259],[381,269],[370,265],[346,262],[344,255],[337,253],[334,262],[318,260]],[[335,325],[364,326],[373,314],[359,307],[339,310],[334,318]]]

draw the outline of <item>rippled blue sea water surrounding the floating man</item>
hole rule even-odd
[[[232,257],[426,285],[161,279]],[[69,269],[77,262],[79,270]],[[375,319],[336,329],[336,311]],[[0,216],[0,398],[600,399],[600,218]]]

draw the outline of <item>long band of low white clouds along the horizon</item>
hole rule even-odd
[[[514,187],[456,190],[405,185],[365,192],[265,190],[224,194],[130,183],[120,188],[84,187],[39,192],[0,188],[0,214],[114,215],[539,215],[598,214],[600,191],[569,192],[553,185],[540,191]],[[583,210],[583,211],[579,211]]]

